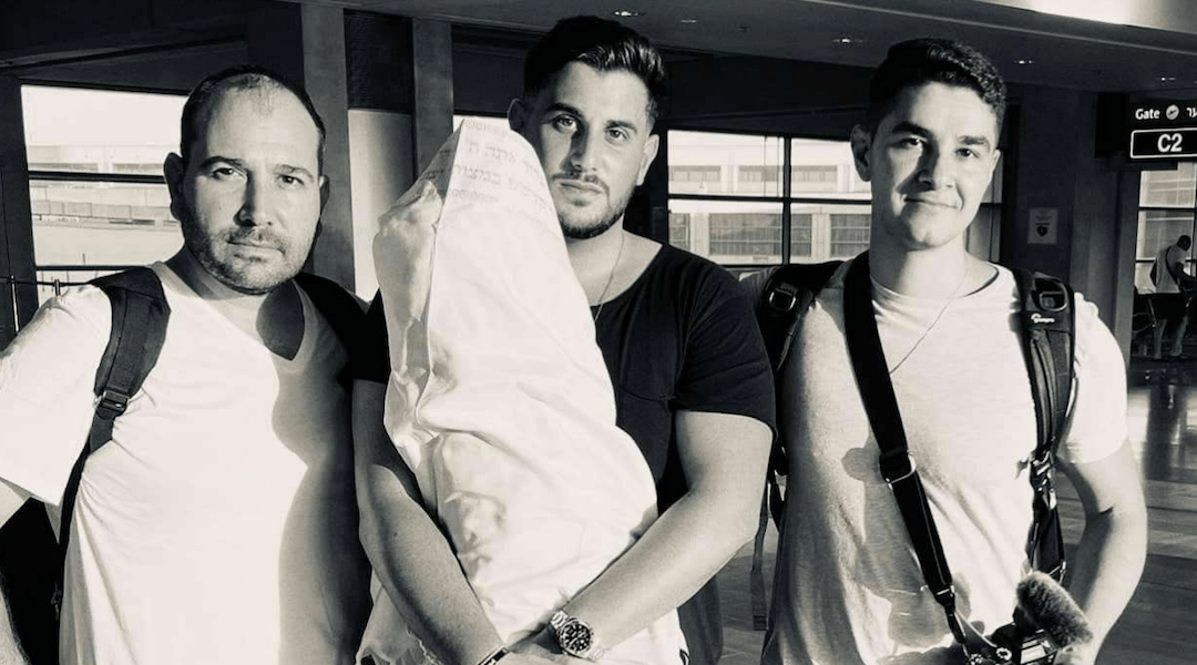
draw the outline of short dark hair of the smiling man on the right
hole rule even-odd
[[[907,87],[928,83],[966,87],[989,105],[998,132],[1005,115],[1005,83],[997,67],[977,49],[952,39],[910,39],[889,47],[869,84],[865,127],[876,134],[881,118],[893,110]]]

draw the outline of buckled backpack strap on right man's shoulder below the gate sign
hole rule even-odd
[[[1057,581],[1064,576],[1064,537],[1056,510],[1055,454],[1068,425],[1075,353],[1075,294],[1063,281],[1015,269],[1022,301],[1023,355],[1035,404],[1037,444],[1031,458],[1034,519],[1027,557]]]

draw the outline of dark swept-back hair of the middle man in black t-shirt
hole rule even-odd
[[[666,63],[648,39],[631,28],[598,17],[571,17],[541,37],[524,59],[524,96],[531,97],[570,62],[600,72],[636,74],[649,89],[649,127],[656,123],[666,96]]]

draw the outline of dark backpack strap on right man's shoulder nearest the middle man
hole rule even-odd
[[[790,355],[790,347],[802,317],[841,263],[843,261],[790,263],[766,274],[765,287],[757,299],[754,312],[761,337],[765,340],[765,350],[768,353],[774,382],[782,376],[782,367],[785,366]],[[779,390],[774,393],[778,398],[780,397]],[[778,403],[778,408],[780,408],[780,403]],[[782,494],[780,477],[789,472],[784,444],[779,434],[773,437],[772,450],[768,454],[768,471],[765,476],[765,494],[761,498],[757,536],[753,538],[752,571],[748,574],[748,584],[754,630],[764,630],[767,624],[764,572],[765,532],[768,529],[771,515],[778,531],[782,529],[785,501]]]

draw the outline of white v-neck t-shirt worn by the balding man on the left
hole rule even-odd
[[[306,294],[286,360],[153,269],[166,340],[79,486],[61,661],[352,663],[369,568],[345,349]],[[86,439],[110,312],[71,289],[0,354],[0,477],[48,505]]]

